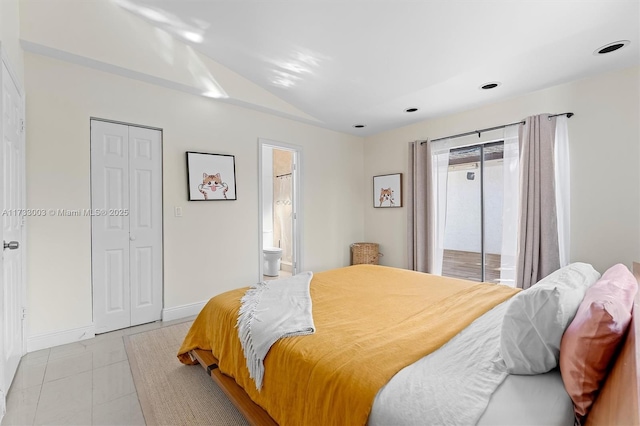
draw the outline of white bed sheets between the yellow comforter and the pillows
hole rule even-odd
[[[557,371],[537,376],[506,373],[499,345],[508,303],[399,371],[376,395],[369,426],[571,426],[573,406]]]

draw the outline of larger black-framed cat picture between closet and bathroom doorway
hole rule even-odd
[[[236,158],[187,152],[189,201],[236,200]]]

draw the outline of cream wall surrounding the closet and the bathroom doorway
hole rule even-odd
[[[29,208],[90,207],[90,117],[164,130],[165,308],[257,281],[258,138],[303,147],[306,269],[348,265],[349,244],[362,240],[362,138],[31,53],[25,78]],[[188,202],[185,151],[235,155],[238,200]],[[86,327],[89,218],[31,217],[27,225],[28,335]]]

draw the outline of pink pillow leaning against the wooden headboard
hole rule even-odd
[[[626,266],[612,266],[591,286],[562,336],[560,372],[576,416],[589,413],[631,321],[638,283]]]

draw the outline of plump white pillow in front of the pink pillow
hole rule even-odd
[[[600,273],[572,263],[513,296],[502,322],[500,354],[511,374],[541,374],[558,365],[560,342]]]

